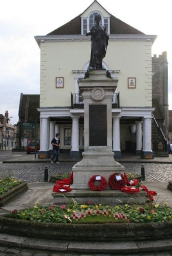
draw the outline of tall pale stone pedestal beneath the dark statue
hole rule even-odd
[[[107,77],[105,70],[90,71],[87,79],[78,81],[84,100],[84,152],[72,168],[74,190],[89,190],[89,179],[95,174],[108,182],[111,174],[125,170],[112,152],[112,97],[117,82]]]

